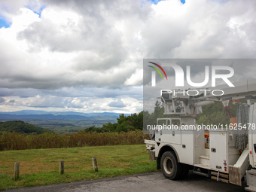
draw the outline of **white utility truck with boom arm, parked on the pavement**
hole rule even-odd
[[[245,190],[256,191],[256,79],[197,90],[161,90],[164,114],[149,127],[151,140],[145,140],[150,160],[169,179],[184,178],[190,169]],[[247,104],[237,102],[246,99]],[[230,101],[237,104],[236,122],[227,125],[197,125],[197,114],[203,105],[222,102],[229,111]],[[214,105],[214,104],[213,104]],[[207,143],[205,131],[209,131]]]

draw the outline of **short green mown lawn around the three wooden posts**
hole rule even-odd
[[[99,172],[94,172],[92,157]],[[65,173],[59,175],[59,161]],[[14,181],[14,163],[20,162],[20,178]],[[32,149],[0,152],[0,190],[41,184],[81,181],[156,171],[145,145]]]

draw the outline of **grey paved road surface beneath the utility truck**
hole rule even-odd
[[[136,175],[126,175],[115,178],[102,178],[98,180],[75,181],[71,183],[49,184],[39,187],[23,187],[20,189],[5,190],[10,192],[81,192],[81,191],[243,191],[242,187],[234,184],[226,184],[194,175],[190,172],[187,178],[180,181],[172,181],[164,178],[162,172],[150,172]]]

